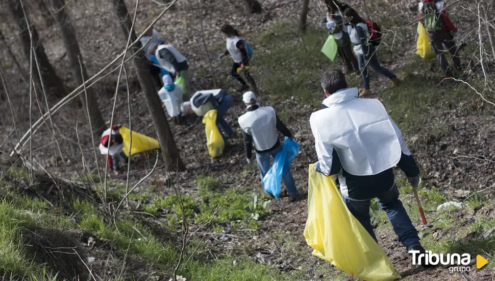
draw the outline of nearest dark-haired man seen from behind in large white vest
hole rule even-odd
[[[315,170],[338,175],[345,204],[375,241],[369,205],[378,198],[399,241],[408,251],[424,253],[394,182],[392,168],[397,165],[412,185],[419,183],[419,169],[401,130],[379,100],[358,99],[358,89],[348,88],[341,71],[325,73],[321,86],[327,108],[313,112],[309,120],[318,156]]]

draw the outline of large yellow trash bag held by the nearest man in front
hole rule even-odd
[[[309,166],[308,220],[304,229],[313,255],[366,281],[395,280],[401,275],[385,252],[349,212],[335,181]]]

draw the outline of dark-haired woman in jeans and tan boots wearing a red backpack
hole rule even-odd
[[[358,57],[361,77],[363,78],[363,90],[359,93],[359,97],[362,98],[371,93],[369,89],[368,64],[373,67],[376,72],[388,77],[392,81],[392,86],[398,86],[401,83],[401,80],[387,68],[380,65],[375,46],[368,42],[370,36],[366,22],[353,8],[345,9],[344,18],[350,23],[348,27],[349,36],[351,37],[351,42],[354,44],[354,53]]]

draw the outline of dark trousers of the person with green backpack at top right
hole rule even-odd
[[[444,77],[452,77],[452,69],[449,66],[449,62],[444,56],[446,51],[443,50],[443,45],[447,47],[447,51],[449,51],[452,56],[452,60],[454,61],[454,67],[459,68],[461,66],[461,60],[457,54],[457,45],[454,41],[454,37],[447,32],[444,33],[428,33],[428,38],[430,39],[431,45],[433,47],[433,51],[437,54],[437,60],[442,68]]]

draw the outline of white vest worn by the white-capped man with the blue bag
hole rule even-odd
[[[277,118],[271,106],[263,106],[241,115],[238,120],[242,131],[253,137],[256,150],[272,148],[278,139]]]

